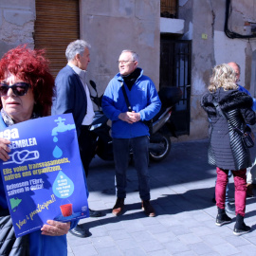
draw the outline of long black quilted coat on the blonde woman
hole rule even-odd
[[[215,101],[229,121],[241,130],[247,124],[256,122],[251,109],[252,98],[238,90],[218,89],[202,97],[201,106],[207,112],[210,121],[209,163],[225,170],[241,170],[251,166],[250,154],[241,136],[233,131],[230,123],[213,104]]]

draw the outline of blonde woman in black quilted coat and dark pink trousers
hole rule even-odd
[[[251,109],[252,98],[238,91],[236,75],[228,64],[216,65],[210,78],[209,93],[201,100],[201,106],[207,112],[210,121],[209,163],[216,166],[217,181],[215,187],[218,214],[216,225],[230,223],[225,212],[225,194],[228,173],[231,170],[235,184],[236,224],[233,233],[241,235],[250,228],[244,223],[247,197],[247,167],[251,166],[250,154],[242,137],[233,130],[249,129],[247,124],[256,122]],[[225,116],[227,118],[225,118]]]

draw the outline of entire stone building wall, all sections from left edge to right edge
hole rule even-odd
[[[256,24],[255,0],[233,0],[230,28],[247,33],[246,22]],[[139,66],[159,83],[160,1],[81,0],[81,38],[92,45],[88,79],[103,93],[118,73],[122,49],[137,51]],[[180,0],[179,19],[185,21],[181,39],[192,40],[191,134],[179,140],[208,136],[206,114],[200,98],[207,91],[215,64],[241,65],[240,83],[256,97],[256,40],[230,39],[224,32],[226,1]],[[21,44],[34,46],[35,0],[0,1],[0,57]]]

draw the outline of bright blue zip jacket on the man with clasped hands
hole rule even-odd
[[[155,84],[149,77],[140,75],[132,86],[131,91],[123,83],[126,94],[132,106],[132,110],[140,114],[140,119],[150,120],[155,117],[161,108]],[[128,111],[122,90],[123,82],[120,74],[117,74],[109,83],[102,98],[102,110],[108,119],[112,120],[112,137],[131,138],[149,136],[149,128],[142,121],[128,123],[119,119],[119,114]]]

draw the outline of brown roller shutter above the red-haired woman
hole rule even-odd
[[[45,48],[54,77],[66,64],[66,46],[80,38],[79,0],[36,0],[35,48]]]

